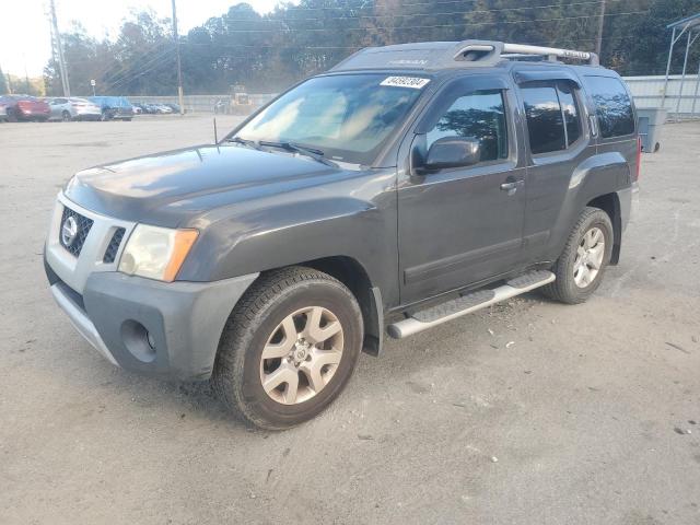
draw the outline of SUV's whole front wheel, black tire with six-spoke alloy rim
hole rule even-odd
[[[319,322],[312,323],[319,311]],[[288,331],[284,327],[290,326],[290,318]],[[339,331],[322,342],[317,342],[320,337],[305,332],[310,326],[327,330],[332,325],[338,330],[336,323]],[[229,317],[214,364],[214,390],[248,423],[268,430],[295,427],[317,416],[342,392],[360,357],[362,339],[360,306],[341,282],[305,267],[268,273],[250,287]],[[284,353],[288,347],[289,354]],[[268,357],[273,353],[270,350],[287,357],[264,360],[264,350]],[[311,370],[318,373],[311,374]],[[291,386],[294,381],[278,383],[282,373],[292,378],[296,374],[296,388]],[[312,388],[310,374],[319,387]]]

